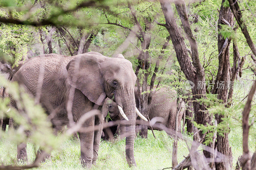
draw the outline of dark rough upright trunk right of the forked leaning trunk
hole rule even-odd
[[[218,29],[221,29],[220,24],[225,24],[226,21],[230,26],[234,24],[234,15],[229,7],[223,7],[223,3],[225,0],[222,0],[221,8],[220,8],[220,16],[218,21]],[[228,24],[226,23],[226,24]],[[219,50],[219,69],[217,73],[217,78],[215,80],[215,84],[213,87],[213,94],[218,94],[218,99],[223,100],[223,103],[228,102],[228,91],[227,84],[230,81],[230,62],[229,62],[229,42],[227,43],[228,38],[224,39],[223,36],[219,33],[218,35],[218,50]],[[228,40],[229,41],[229,40]],[[225,47],[227,46],[227,47]],[[224,51],[225,50],[225,51]],[[221,86],[220,83],[224,83],[224,86]],[[225,118],[227,115],[216,114],[215,118],[217,123],[220,124],[222,122],[222,118]],[[224,129],[223,129],[224,130]],[[232,168],[232,151],[229,146],[228,141],[229,132],[224,132],[223,134],[217,134],[217,144],[216,148],[218,152],[223,153],[228,159],[224,162],[216,162],[216,169],[231,169]]]

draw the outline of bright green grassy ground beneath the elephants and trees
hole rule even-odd
[[[240,128],[237,128],[239,132]],[[148,131],[148,139],[137,137],[135,139],[135,160],[137,167],[129,168],[125,159],[125,140],[116,142],[102,141],[100,143],[99,157],[93,169],[163,169],[172,166],[172,139],[164,131]],[[231,132],[229,135],[230,144],[233,151],[233,166],[235,166],[238,156],[242,155],[242,136],[240,133]],[[188,137],[190,140],[192,137]],[[251,151],[255,150],[255,141],[249,140]],[[10,147],[8,147],[10,148]],[[16,159],[17,148],[12,146],[11,150],[6,151],[0,141],[0,162],[10,164]],[[68,139],[60,150],[52,151],[51,159],[42,163],[39,168],[34,169],[83,169],[80,164],[80,144],[78,140]],[[28,143],[28,159],[33,162],[35,159],[34,147]],[[11,158],[6,158],[6,153]],[[188,148],[184,141],[178,142],[178,162],[188,155]],[[9,159],[9,160],[7,160]]]

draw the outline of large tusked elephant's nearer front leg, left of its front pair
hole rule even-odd
[[[81,164],[87,168],[92,166],[93,158],[94,131],[91,128],[94,129],[94,117],[87,119],[78,132],[81,146]],[[88,129],[88,132],[83,132]]]

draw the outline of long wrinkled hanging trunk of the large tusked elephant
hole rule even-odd
[[[126,160],[130,166],[136,166],[134,159],[134,138],[135,138],[135,97],[133,90],[125,96],[123,102],[124,113],[128,118],[128,124],[126,125],[126,141],[125,141],[125,155]]]

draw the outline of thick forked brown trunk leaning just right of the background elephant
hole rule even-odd
[[[196,99],[205,98],[206,95],[204,69],[199,60],[195,37],[193,36],[190,29],[186,4],[184,1],[176,1],[176,3],[180,3],[176,4],[176,8],[178,10],[187,38],[189,40],[192,51],[191,57],[193,63],[190,61],[190,57],[188,56],[184,38],[180,33],[180,28],[177,26],[172,11],[172,6],[169,1],[160,0],[166,24],[158,23],[158,25],[165,26],[167,31],[169,32],[181,70],[192,85],[195,121],[198,124],[203,124],[206,126],[207,123],[211,123],[212,117],[209,115],[207,108],[204,105],[196,102]],[[202,132],[200,131],[199,133],[202,137]],[[210,157],[208,152],[204,152],[204,155],[206,157]]]

